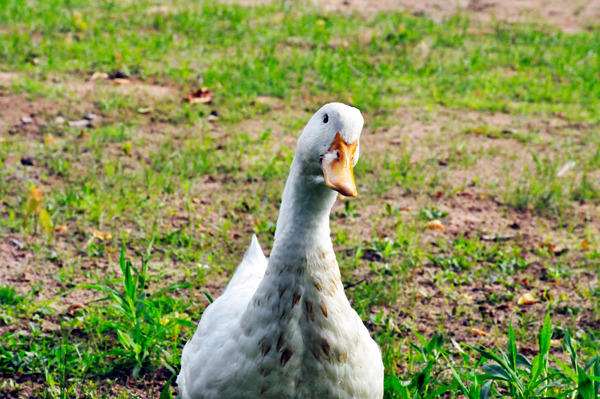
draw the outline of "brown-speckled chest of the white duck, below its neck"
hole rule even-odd
[[[264,289],[241,326],[263,397],[363,397],[357,389],[374,343],[339,278]]]

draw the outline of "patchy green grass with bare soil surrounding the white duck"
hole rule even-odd
[[[597,397],[597,29],[2,5],[0,392],[163,392],[250,235],[271,247],[299,131],[343,101],[366,124],[332,240],[385,397]]]

